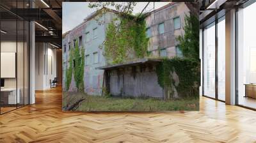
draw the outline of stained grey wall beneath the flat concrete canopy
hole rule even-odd
[[[156,66],[132,66],[108,70],[109,93],[114,96],[164,98],[157,82]]]

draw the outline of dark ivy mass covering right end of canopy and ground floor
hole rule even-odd
[[[195,59],[175,57],[173,59],[163,59],[157,65],[158,83],[163,88],[175,87],[179,96],[198,96],[200,85],[200,63]],[[179,77],[179,84],[175,85],[173,72]]]

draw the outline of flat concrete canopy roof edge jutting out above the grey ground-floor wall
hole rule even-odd
[[[125,67],[125,66],[135,66],[135,65],[146,64],[146,63],[159,63],[161,61],[162,61],[162,59],[143,58],[143,59],[138,59],[138,60],[135,60],[135,61],[128,61],[128,62],[120,63],[120,64],[100,66],[100,67],[97,67],[95,69],[97,69],[97,70],[109,70],[109,69],[114,69],[114,68],[122,68],[122,67]]]

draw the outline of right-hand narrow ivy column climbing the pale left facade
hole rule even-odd
[[[84,91],[84,48],[79,48],[78,40],[74,47],[73,64],[76,87],[79,91]]]

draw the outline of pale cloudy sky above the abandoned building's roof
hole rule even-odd
[[[123,3],[123,2],[118,2]],[[134,7],[133,13],[140,13],[148,2],[138,2]],[[155,9],[160,8],[171,2],[155,2]],[[88,15],[96,11],[88,8],[88,2],[63,2],[62,3],[62,33],[70,31],[81,24]],[[114,9],[113,7],[109,7]],[[154,3],[150,2],[144,11],[154,10]]]

